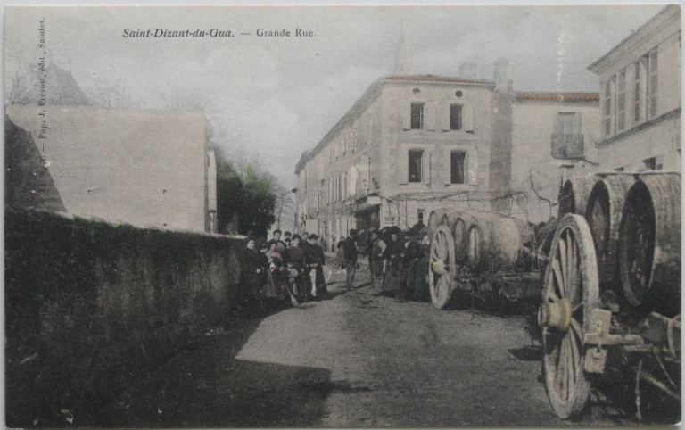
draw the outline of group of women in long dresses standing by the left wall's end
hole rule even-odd
[[[298,304],[327,293],[323,266],[326,257],[317,235],[292,235],[274,231],[268,242],[260,244],[248,237],[240,255],[240,307],[263,316],[279,304]]]

